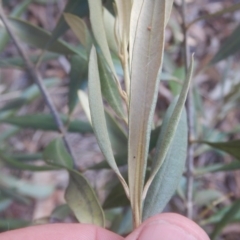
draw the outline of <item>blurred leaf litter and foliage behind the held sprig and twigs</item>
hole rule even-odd
[[[103,4],[114,15],[112,2],[104,0]],[[150,156],[162,116],[185,79],[180,2],[175,1],[167,28]],[[94,187],[108,228],[126,235],[132,222],[129,202],[97,146],[84,111],[86,103],[78,100],[78,90],[83,96],[87,92],[87,49],[79,44],[63,16],[63,12],[77,15],[90,29],[87,0],[3,0],[3,7],[14,34],[39,68],[67,129],[75,164]],[[194,220],[212,239],[239,239],[240,2],[189,0],[187,9],[189,45],[196,59]],[[123,78],[120,61],[112,54],[117,74]],[[112,97],[117,96],[104,94],[109,82],[104,63],[100,75],[114,153],[126,175],[127,136],[111,112]],[[0,231],[47,222],[76,222],[64,200],[66,162],[49,161],[54,155],[61,163],[65,154],[58,128],[1,23],[0,92]],[[184,176],[165,211],[185,215],[185,192]]]

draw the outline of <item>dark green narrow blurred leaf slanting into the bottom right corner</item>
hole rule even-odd
[[[235,218],[235,216],[238,214],[238,211],[240,209],[240,200],[236,201],[231,208],[226,212],[222,220],[216,224],[215,229],[213,233],[211,234],[211,239],[214,240],[217,238],[217,236],[221,233],[222,229],[227,226],[229,223],[232,222],[232,220]]]

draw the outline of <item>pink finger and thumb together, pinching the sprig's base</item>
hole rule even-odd
[[[87,224],[52,224],[0,234],[1,240],[124,240],[106,229]],[[193,221],[164,213],[145,221],[125,240],[210,240]]]

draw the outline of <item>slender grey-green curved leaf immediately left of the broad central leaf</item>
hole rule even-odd
[[[89,62],[89,105],[91,111],[92,125],[96,135],[98,145],[108,161],[111,168],[117,174],[119,180],[124,186],[126,194],[128,195],[128,186],[119,172],[118,166],[115,162],[111,142],[108,135],[106,118],[104,114],[104,106],[102,102],[102,93],[98,72],[98,61],[95,47],[92,48]]]

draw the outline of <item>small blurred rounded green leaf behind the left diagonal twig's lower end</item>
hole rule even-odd
[[[44,150],[43,158],[49,165],[73,169],[73,159],[67,152],[62,138],[53,140]]]

